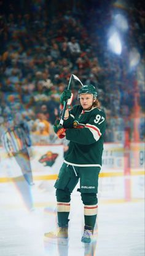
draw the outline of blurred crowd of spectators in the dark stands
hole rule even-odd
[[[28,122],[34,144],[55,141],[53,123],[60,115],[60,94],[73,73],[98,90],[108,118],[105,142],[122,141],[127,126],[133,141],[136,104],[142,140],[144,11],[139,2],[125,9],[97,1],[98,6],[88,9],[78,1],[72,10],[53,5],[48,10],[45,1],[38,2],[27,10],[12,4],[7,12],[1,9],[0,123],[4,114],[19,112]],[[106,46],[107,30],[117,10],[126,15],[129,25],[120,56]],[[139,62],[132,70],[128,68],[130,49],[139,52]]]

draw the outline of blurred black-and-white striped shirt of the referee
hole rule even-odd
[[[7,131],[2,134],[1,139],[7,153],[18,153],[26,147],[31,146],[29,134],[27,134],[21,126],[8,128]]]

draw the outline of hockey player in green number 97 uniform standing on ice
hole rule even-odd
[[[103,134],[106,126],[104,112],[98,108],[97,92],[93,85],[79,89],[80,105],[66,110],[63,127],[59,120],[54,125],[59,138],[66,136],[69,149],[55,182],[57,197],[58,232],[45,233],[45,237],[67,238],[71,192],[80,180],[78,189],[84,204],[84,234],[81,241],[92,241],[98,209],[98,176],[103,153]],[[60,97],[61,104],[71,97],[65,90]]]

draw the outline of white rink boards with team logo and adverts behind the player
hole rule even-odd
[[[37,179],[55,179],[63,163],[63,145],[33,146],[31,167]],[[130,144],[129,175],[144,175],[144,143]],[[0,147],[0,182],[3,178],[20,176],[20,168],[13,157],[7,158]],[[101,177],[123,176],[125,174],[125,149],[120,143],[105,143]]]

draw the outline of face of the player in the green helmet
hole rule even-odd
[[[93,102],[95,102],[95,99],[93,99],[93,94],[80,94],[79,99],[80,105],[84,110],[90,110]]]

